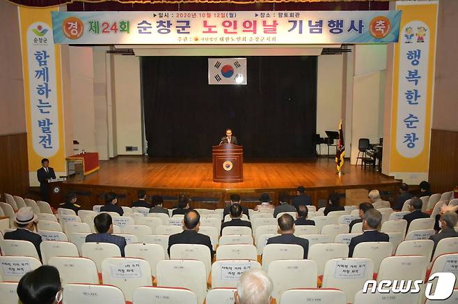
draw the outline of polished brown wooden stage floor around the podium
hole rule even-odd
[[[84,177],[69,178],[63,183],[63,192],[77,192],[84,208],[103,204],[103,194],[113,191],[118,204],[130,206],[136,200],[136,191],[147,195],[162,195],[167,207],[175,206],[180,193],[190,195],[194,208],[221,208],[232,193],[239,193],[247,206],[254,206],[262,192],[268,192],[275,204],[278,193],[295,195],[303,185],[318,204],[331,192],[345,195],[347,190],[378,189],[392,200],[400,185],[394,178],[362,169],[345,162],[345,174],[335,174],[334,158],[307,158],[294,160],[246,160],[242,183],[214,183],[211,160],[164,160],[148,156],[118,156],[101,161],[100,170]]]

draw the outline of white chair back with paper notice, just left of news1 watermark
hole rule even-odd
[[[347,303],[353,303],[365,281],[372,280],[374,262],[371,259],[330,259],[324,267],[324,288],[337,288],[345,292]]]

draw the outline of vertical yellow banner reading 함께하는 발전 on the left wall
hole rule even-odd
[[[52,37],[53,10],[19,7],[31,184],[42,158],[49,158],[57,176],[66,171],[61,47]]]

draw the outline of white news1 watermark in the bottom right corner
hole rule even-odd
[[[434,280],[436,280],[434,282]],[[433,273],[425,283],[425,296],[428,300],[446,300],[450,298],[457,278],[453,273]],[[364,283],[363,294],[418,294],[423,280],[368,280]],[[433,290],[433,287],[435,289]]]

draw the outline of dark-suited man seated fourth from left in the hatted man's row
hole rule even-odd
[[[277,220],[278,233],[280,236],[274,236],[267,240],[269,244],[293,244],[300,245],[303,248],[303,258],[307,259],[308,255],[308,240],[294,236],[294,218],[289,214],[283,214]]]

